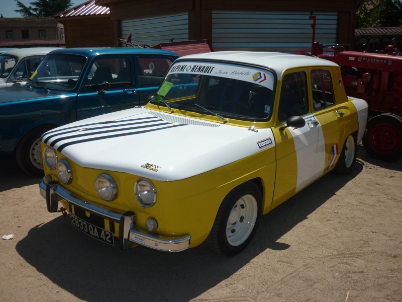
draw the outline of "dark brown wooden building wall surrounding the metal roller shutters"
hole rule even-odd
[[[189,39],[212,41],[213,10],[338,12],[337,43],[353,45],[357,10],[357,0],[105,0],[103,5],[110,7],[111,13],[105,17],[108,20],[88,16],[64,21],[67,47],[116,46],[120,20],[183,11],[188,12]]]

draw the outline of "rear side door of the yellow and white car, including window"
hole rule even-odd
[[[333,75],[330,68],[309,68],[313,113],[318,124],[316,173],[323,174],[332,168],[342,149],[344,114],[336,102]]]

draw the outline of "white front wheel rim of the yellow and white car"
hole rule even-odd
[[[244,243],[254,229],[258,205],[253,195],[244,195],[233,206],[226,224],[226,238],[232,246]]]

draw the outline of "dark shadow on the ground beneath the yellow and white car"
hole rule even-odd
[[[16,250],[54,284],[82,300],[188,301],[265,250],[289,248],[280,242],[281,237],[362,169],[363,163],[357,161],[348,176],[330,173],[263,216],[254,240],[234,257],[217,255],[204,245],[177,254],[141,247],[123,251],[72,228],[68,216],[35,226],[18,242]]]

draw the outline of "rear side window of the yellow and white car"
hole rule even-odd
[[[314,69],[311,71],[314,110],[318,111],[335,104],[332,85],[331,73],[329,70]]]

